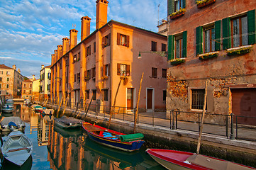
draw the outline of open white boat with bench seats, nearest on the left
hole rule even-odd
[[[11,132],[4,140],[1,152],[4,159],[17,166],[22,166],[33,151],[33,143],[20,131]]]

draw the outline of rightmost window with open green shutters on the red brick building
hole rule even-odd
[[[223,50],[255,44],[255,9],[243,16],[222,20]]]

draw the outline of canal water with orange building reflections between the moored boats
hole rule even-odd
[[[33,142],[32,159],[23,169],[87,169],[87,170],[163,170],[141,148],[137,152],[122,152],[89,140],[84,130],[63,130],[53,123],[53,116],[42,117],[23,103],[14,105],[13,114],[26,123],[25,135]],[[2,165],[3,169],[13,169]]]

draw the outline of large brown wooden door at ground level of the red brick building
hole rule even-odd
[[[256,125],[256,118],[252,118],[256,117],[256,89],[231,89],[231,93],[232,113],[238,115],[238,123]]]

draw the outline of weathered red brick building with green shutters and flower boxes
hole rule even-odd
[[[256,117],[255,8],[250,0],[168,0],[167,109],[201,112],[208,80],[207,113]]]

